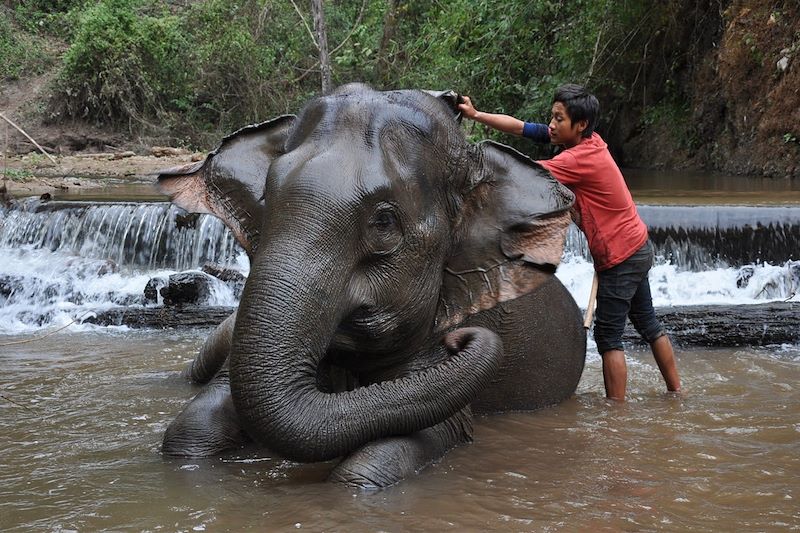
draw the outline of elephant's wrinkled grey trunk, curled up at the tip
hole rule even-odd
[[[463,329],[438,348],[443,362],[435,366],[352,391],[320,390],[319,363],[343,316],[358,303],[347,302],[341,266],[338,276],[332,273],[337,261],[323,254],[299,261],[297,249],[292,252],[262,251],[255,259],[231,349],[234,403],[262,445],[291,460],[332,459],[447,419],[498,370],[499,337]]]

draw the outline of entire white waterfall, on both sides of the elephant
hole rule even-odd
[[[800,207],[640,206],[656,246],[657,306],[797,298]],[[574,226],[556,275],[585,306],[593,267]],[[41,202],[0,209],[0,333],[69,323],[87,312],[152,305],[171,274],[212,263],[246,275],[247,256],[210,215],[166,202]],[[216,283],[216,285],[214,284]],[[235,305],[212,282],[209,305]]]

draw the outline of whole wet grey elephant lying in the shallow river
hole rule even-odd
[[[162,171],[174,204],[219,217],[250,258],[162,453],[254,442],[382,488],[471,442],[475,416],[575,392],[586,333],[555,276],[574,196],[469,141],[459,98],[348,84]]]

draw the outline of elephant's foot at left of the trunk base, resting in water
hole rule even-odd
[[[161,451],[178,457],[208,457],[249,440],[233,406],[228,374],[223,371],[169,425]]]

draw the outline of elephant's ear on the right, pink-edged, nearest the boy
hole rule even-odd
[[[564,251],[575,196],[540,164],[490,141],[475,147],[438,325],[535,290]]]

